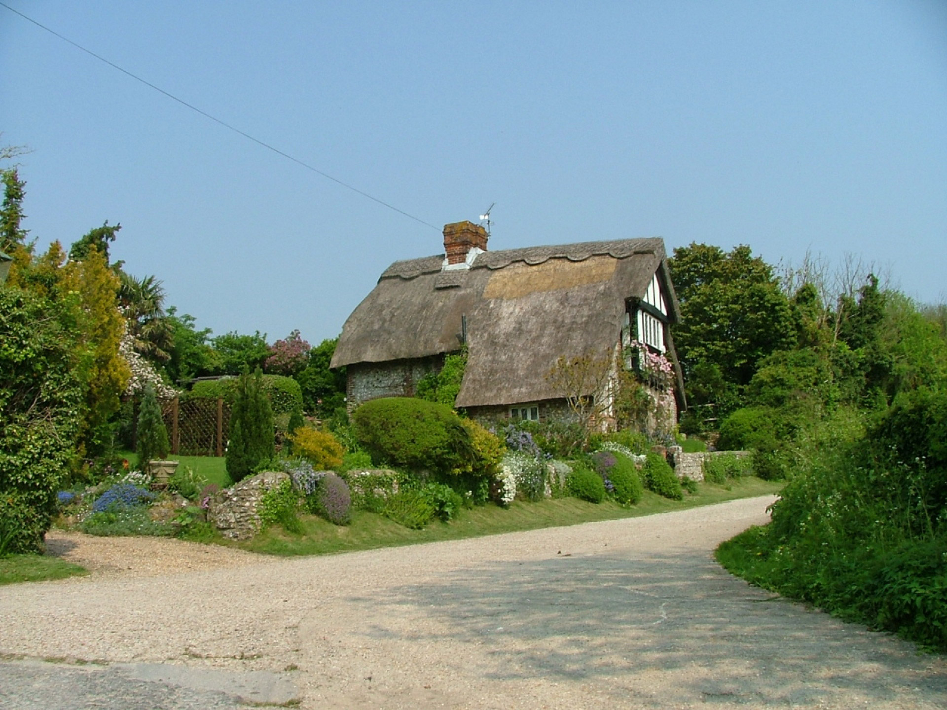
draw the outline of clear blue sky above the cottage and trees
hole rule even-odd
[[[491,204],[490,247],[660,236],[855,254],[947,297],[947,3],[4,0],[0,143],[41,247],[113,254],[200,327],[333,337]]]

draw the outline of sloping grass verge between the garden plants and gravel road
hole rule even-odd
[[[577,498],[557,498],[539,503],[514,501],[509,508],[488,504],[461,510],[450,523],[435,521],[423,530],[411,530],[382,515],[361,510],[354,511],[351,524],[345,526],[333,525],[313,515],[303,515],[300,516],[305,530],[302,535],[293,535],[279,526],[273,526],[251,541],[228,544],[237,544],[245,550],[267,555],[325,555],[616,518],[634,518],[688,507],[709,506],[735,498],[777,493],[783,485],[783,482],[761,481],[753,477],[735,479],[725,486],[701,483],[698,484],[697,493],[685,493],[683,501],[671,501],[646,490],[641,502],[630,507],[618,506],[611,501],[600,504],[586,503]]]

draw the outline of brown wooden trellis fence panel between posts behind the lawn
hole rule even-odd
[[[223,456],[230,424],[230,406],[223,398],[161,400],[171,454]]]

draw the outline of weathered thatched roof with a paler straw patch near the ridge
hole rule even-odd
[[[478,255],[469,270],[444,257],[396,261],[348,317],[332,367],[455,352],[466,316],[469,357],[457,406],[554,399],[545,374],[561,357],[618,342],[625,301],[652,275],[678,305],[660,239],[587,241]]]

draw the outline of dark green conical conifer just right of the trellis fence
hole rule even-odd
[[[235,483],[260,464],[270,461],[274,446],[273,409],[263,392],[262,372],[251,376],[243,370],[237,387],[237,399],[230,412],[230,441],[227,443],[226,469]]]

